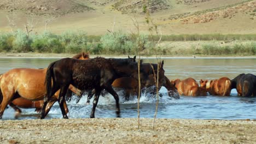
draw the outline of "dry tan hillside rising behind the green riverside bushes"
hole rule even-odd
[[[132,32],[135,27],[131,19],[136,17],[141,31],[147,33],[143,5],[147,5],[162,34],[256,33],[255,0],[2,0],[0,31],[24,29],[27,23],[34,27],[33,32]]]

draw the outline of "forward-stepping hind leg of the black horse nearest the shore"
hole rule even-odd
[[[60,95],[59,95],[59,98],[58,98],[58,102],[59,102],[59,105],[60,105],[62,116],[65,119],[68,119],[67,113],[66,113],[65,108],[64,108],[64,101],[66,103],[65,95],[67,93],[67,89],[68,89],[68,85],[61,87]]]

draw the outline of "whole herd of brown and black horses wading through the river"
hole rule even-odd
[[[114,88],[124,89],[124,97],[138,95],[138,79],[141,88],[154,86],[153,94],[161,87],[166,87],[168,96],[179,98],[179,95],[228,96],[231,89],[236,88],[242,97],[256,96],[256,76],[240,74],[235,79],[222,77],[218,80],[200,80],[200,86],[191,77],[185,80],[170,81],[165,76],[164,61],[159,64],[138,62],[133,58],[90,58],[88,53],[78,53],[72,58],[62,58],[50,63],[48,68],[30,69],[16,68],[0,76],[0,118],[7,105],[16,111],[15,117],[21,113],[20,108],[36,108],[40,118],[50,111],[58,101],[63,118],[68,118],[66,99],[72,93],[79,98],[88,93],[87,103],[94,95],[91,118],[95,117],[95,109],[102,91],[113,95],[117,117],[120,117],[119,96]],[[158,89],[155,87],[158,82]]]

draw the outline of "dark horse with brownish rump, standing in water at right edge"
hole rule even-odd
[[[231,85],[231,89],[236,88],[239,96],[256,96],[256,76],[253,74],[240,74],[231,80]]]

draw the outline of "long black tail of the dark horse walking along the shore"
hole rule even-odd
[[[51,97],[50,92],[51,92],[51,80],[53,78],[53,86],[55,86],[55,80],[54,80],[54,71],[53,67],[56,62],[50,63],[50,65],[47,68],[46,75],[45,75],[45,81],[44,85],[46,85],[46,96],[49,98]]]

